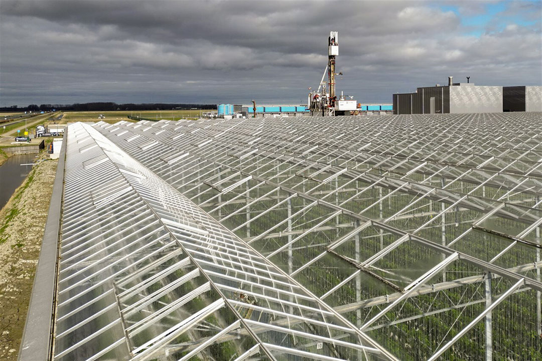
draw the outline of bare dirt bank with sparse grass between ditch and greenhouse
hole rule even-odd
[[[0,211],[0,360],[16,360],[21,343],[58,162],[48,158]]]

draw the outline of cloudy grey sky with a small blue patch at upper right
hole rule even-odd
[[[537,1],[0,1],[0,106],[299,103],[339,31],[337,90],[542,84]]]

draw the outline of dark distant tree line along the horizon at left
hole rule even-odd
[[[73,110],[73,111],[108,111],[108,110],[182,110],[182,109],[215,109],[216,104],[191,104],[191,103],[142,103],[142,104],[117,104],[112,102],[93,102],[75,104],[29,104],[27,107],[0,107],[0,111],[49,111],[49,110]]]

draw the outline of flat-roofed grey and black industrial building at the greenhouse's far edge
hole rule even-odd
[[[542,111],[542,87],[476,86],[453,83],[393,94],[393,114],[502,113]]]

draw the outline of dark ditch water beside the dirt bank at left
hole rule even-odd
[[[21,165],[34,163],[36,155],[37,153],[15,154],[0,166],[0,209],[5,206],[32,169],[32,166]]]

